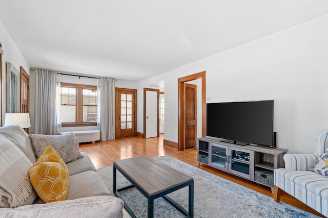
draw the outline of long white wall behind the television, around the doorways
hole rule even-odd
[[[274,100],[278,148],[312,153],[315,133],[328,129],[327,26],[325,15],[138,82],[137,131],[143,130],[142,87],[164,81],[165,139],[177,142],[177,79],[206,70],[208,103]]]

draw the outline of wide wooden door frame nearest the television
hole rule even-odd
[[[185,150],[186,144],[186,101],[185,82],[201,79],[201,136],[206,136],[206,71],[178,78],[178,150]]]

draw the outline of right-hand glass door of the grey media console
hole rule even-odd
[[[231,148],[229,171],[239,176],[253,179],[253,151]]]

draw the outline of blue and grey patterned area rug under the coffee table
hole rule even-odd
[[[273,198],[223,179],[170,156],[154,158],[194,179],[194,217],[318,217]],[[108,189],[113,188],[113,167],[97,169]],[[117,171],[117,188],[130,184]],[[147,199],[136,188],[120,195],[137,217],[147,217]],[[112,193],[112,196],[114,194]],[[188,210],[188,187],[168,195]],[[154,201],[154,217],[184,217],[162,198]]]

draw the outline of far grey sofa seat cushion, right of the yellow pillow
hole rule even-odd
[[[70,176],[86,171],[96,171],[96,168],[91,162],[90,157],[84,152],[81,152],[81,155],[83,155],[84,158],[79,158],[77,160],[66,163],[68,171],[70,172]]]

